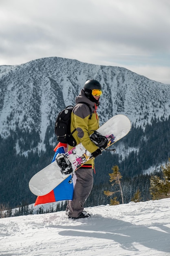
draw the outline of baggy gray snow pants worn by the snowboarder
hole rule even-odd
[[[77,176],[74,187],[73,200],[68,204],[68,215],[78,217],[84,210],[84,203],[93,187],[93,169],[79,168],[75,172]]]

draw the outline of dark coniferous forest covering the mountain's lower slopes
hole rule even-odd
[[[38,146],[39,134],[32,130],[10,132],[7,139],[0,136],[0,195],[1,203],[9,207],[18,207],[22,202],[32,204],[36,196],[29,191],[30,178],[40,169],[51,163],[53,158],[53,146],[49,138],[53,134],[53,125],[49,127],[45,137],[46,152],[31,151],[31,147]],[[112,167],[119,166],[122,175],[121,186],[124,194],[124,203],[130,202],[137,190],[141,192],[143,201],[150,200],[150,174],[144,174],[151,166],[160,166],[168,161],[170,157],[170,116],[166,119],[152,118],[150,124],[135,127],[129,134],[113,145],[117,148],[120,144],[124,150],[130,149],[129,153],[122,155],[117,152],[104,152],[95,160],[94,186],[86,201],[86,207],[107,204],[110,198],[104,195],[104,190],[115,191],[109,182],[108,173]],[[22,149],[30,150],[28,155],[20,155],[15,150],[18,138],[22,138]],[[10,149],[10,151],[9,151]],[[157,173],[157,175],[161,175]],[[117,193],[117,200],[121,203],[120,194]]]

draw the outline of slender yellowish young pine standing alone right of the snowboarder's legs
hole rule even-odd
[[[118,191],[104,191],[104,194],[107,195],[107,196],[112,196],[113,194],[117,193],[117,192],[120,192],[121,193],[121,200],[122,200],[122,204],[124,204],[124,198],[123,198],[123,192],[122,192],[122,189],[121,189],[121,184],[120,184],[120,180],[122,178],[120,172],[119,172],[119,167],[117,165],[113,166],[112,167],[112,170],[113,170],[113,173],[109,173],[109,176],[110,176],[110,182],[112,183],[111,185],[114,186],[115,184],[119,184],[119,188],[120,190]],[[118,201],[116,201],[117,197],[113,198],[110,200],[110,204],[111,205],[115,205],[115,202],[117,202],[116,204],[119,204]]]

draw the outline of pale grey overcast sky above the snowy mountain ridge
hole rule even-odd
[[[170,0],[0,0],[0,65],[51,56],[170,84]]]

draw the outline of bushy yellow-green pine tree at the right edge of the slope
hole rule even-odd
[[[153,200],[170,197],[170,158],[165,167],[161,166],[163,178],[157,175],[150,178],[150,194]]]

